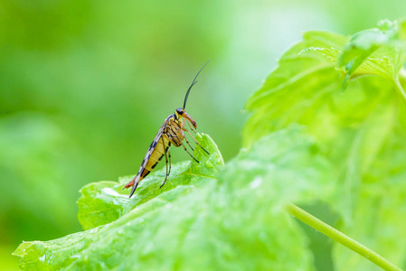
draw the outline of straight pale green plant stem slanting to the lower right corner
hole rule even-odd
[[[288,204],[288,212],[310,226],[326,235],[329,238],[333,238],[335,241],[350,248],[359,255],[365,257],[366,259],[372,261],[375,265],[382,267],[384,270],[388,271],[401,271],[401,268],[394,266],[390,261],[380,256],[379,254],[373,252],[370,248],[366,248],[353,238],[349,238],[344,233],[334,229],[333,227],[327,225],[322,220],[316,219],[314,216],[309,214],[306,210],[300,209],[294,204]]]

